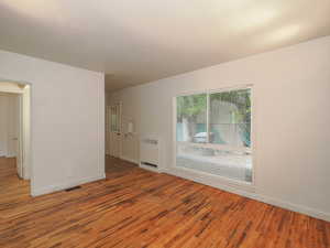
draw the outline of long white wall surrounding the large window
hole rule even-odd
[[[163,139],[169,173],[330,220],[330,36],[127,88],[110,96],[136,131]],[[173,168],[173,97],[253,84],[255,187]],[[139,137],[135,137],[138,140]],[[136,142],[123,153],[138,160]]]

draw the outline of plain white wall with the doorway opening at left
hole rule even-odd
[[[0,51],[0,80],[31,84],[32,194],[105,177],[105,76]]]

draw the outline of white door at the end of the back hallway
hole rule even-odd
[[[109,153],[120,158],[121,153],[121,107],[120,104],[111,105],[108,108]]]

